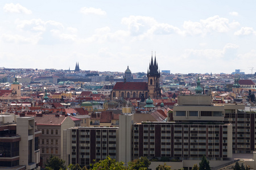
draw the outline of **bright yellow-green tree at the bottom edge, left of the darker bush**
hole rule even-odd
[[[107,156],[106,159],[101,160],[100,162],[90,164],[92,166],[92,170],[98,170],[98,169],[117,169],[122,170],[126,169],[123,167],[123,162],[116,162],[115,159],[111,159],[109,156]]]

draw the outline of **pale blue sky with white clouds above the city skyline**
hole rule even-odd
[[[256,1],[0,1],[0,67],[256,71]],[[254,69],[255,66],[255,69]]]

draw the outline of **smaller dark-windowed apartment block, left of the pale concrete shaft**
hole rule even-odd
[[[66,164],[89,165],[110,158],[118,159],[118,129],[76,127],[64,131]]]

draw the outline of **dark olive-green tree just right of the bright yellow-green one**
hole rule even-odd
[[[132,162],[129,162],[129,169],[147,169],[151,162],[147,159],[147,157],[141,157],[139,159],[135,159]]]

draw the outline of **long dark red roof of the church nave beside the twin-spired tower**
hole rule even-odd
[[[117,82],[113,90],[144,90],[147,91],[146,82]]]

